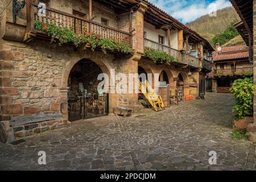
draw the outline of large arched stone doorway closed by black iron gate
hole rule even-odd
[[[102,65],[89,59],[73,65],[67,83],[69,121],[108,115],[109,94],[104,90],[105,85],[98,87],[104,80],[98,80],[101,73],[104,73]]]

